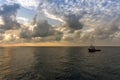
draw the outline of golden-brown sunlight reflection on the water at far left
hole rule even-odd
[[[33,49],[2,48],[0,50],[0,80],[13,80],[17,73],[23,73],[33,63],[33,54],[29,54]]]

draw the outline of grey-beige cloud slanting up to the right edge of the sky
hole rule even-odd
[[[120,16],[116,15],[109,23],[104,24],[104,27],[95,29],[94,35],[99,39],[114,39],[115,34],[120,30]]]

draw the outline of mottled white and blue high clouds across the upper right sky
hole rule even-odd
[[[82,16],[86,13],[85,15],[99,21],[99,18],[119,14],[119,3],[118,0],[44,0],[40,1],[38,10],[43,11],[46,16],[50,14],[62,20],[64,20],[64,16]]]

